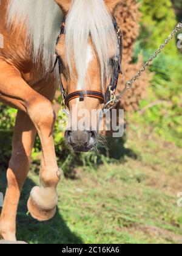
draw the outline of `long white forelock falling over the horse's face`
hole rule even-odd
[[[117,51],[116,33],[112,16],[103,0],[73,0],[66,20],[66,56],[69,69],[75,61],[79,84],[84,86],[87,44],[89,35],[101,66],[101,82],[107,76],[108,49]]]

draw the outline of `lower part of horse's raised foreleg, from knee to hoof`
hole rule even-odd
[[[45,82],[43,80],[42,83],[43,90],[41,90],[41,94],[52,102],[55,95],[55,81]],[[38,83],[37,86],[42,87],[41,83]],[[39,88],[36,88],[36,85],[34,88],[36,91],[40,91]],[[58,201],[56,187],[60,180],[52,135],[55,113],[49,101],[37,101],[34,104],[30,102],[30,108],[27,108],[29,115],[32,116],[35,122],[42,146],[40,185],[32,189],[27,203],[32,217],[38,219],[38,221],[47,221],[55,215]]]

